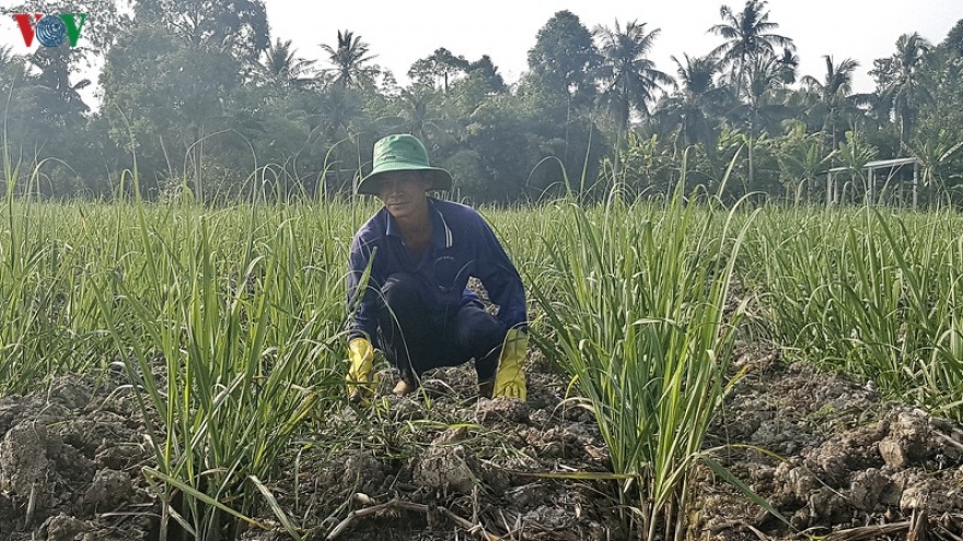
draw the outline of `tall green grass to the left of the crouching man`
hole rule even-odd
[[[303,421],[341,400],[345,261],[368,205],[42,202],[15,197],[15,177],[0,209],[0,396],[120,366],[162,538],[234,539],[264,506],[299,538],[268,486]]]

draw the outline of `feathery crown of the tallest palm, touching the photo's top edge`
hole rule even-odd
[[[709,28],[712,34],[726,38],[711,54],[732,68],[735,82],[744,81],[742,72],[754,58],[776,56],[777,47],[789,52],[796,49],[792,39],[771,33],[779,24],[769,21],[769,12],[765,8],[765,0],[746,0],[745,7],[738,13],[722,5],[719,14],[723,22]]]

